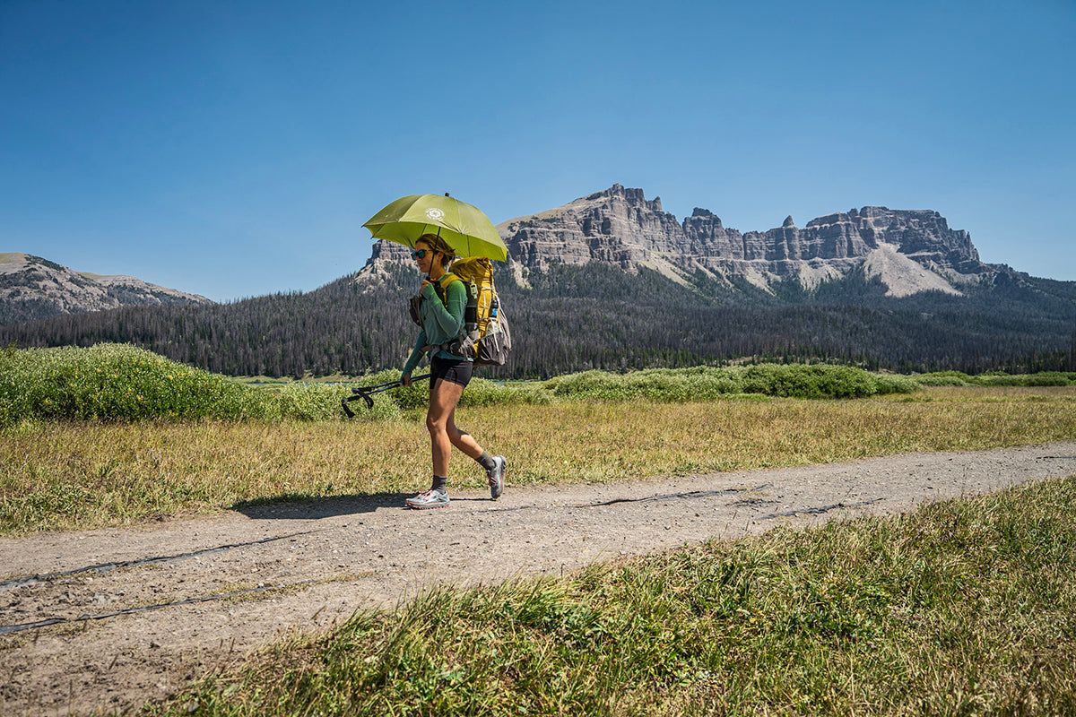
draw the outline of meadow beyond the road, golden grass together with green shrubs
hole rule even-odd
[[[428,482],[425,383],[251,387],[126,345],[0,353],[0,534],[130,525],[250,502],[408,492]],[[873,374],[839,365],[589,371],[478,378],[462,426],[513,457],[512,483],[631,481],[1076,435],[1076,374]],[[1000,378],[996,377],[996,378]],[[1009,377],[1010,378],[1010,377]],[[963,385],[953,385],[960,382]],[[1028,385],[1035,382],[1035,385]],[[610,446],[615,446],[610,450]],[[453,485],[479,487],[452,464]]]

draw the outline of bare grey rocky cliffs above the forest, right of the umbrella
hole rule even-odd
[[[795,226],[792,217],[768,231],[730,229],[705,209],[677,221],[661,199],[613,185],[564,206],[497,227],[515,274],[551,262],[605,261],[634,272],[655,269],[681,283],[702,270],[712,277],[746,277],[768,288],[793,277],[807,288],[856,268],[879,276],[893,296],[940,290],[997,271],[979,261],[966,231],[950,229],[937,212],[865,206]]]

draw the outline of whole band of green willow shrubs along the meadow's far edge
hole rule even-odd
[[[221,374],[176,363],[126,344],[90,348],[31,348],[0,352],[0,426],[23,420],[340,420],[340,400],[351,386],[398,381],[385,370],[354,384],[294,383],[251,387]],[[1076,373],[1031,375],[955,371],[916,377],[876,374],[832,364],[776,364],[649,369],[629,373],[584,371],[546,382],[497,383],[476,377],[461,405],[540,404],[555,400],[666,403],[710,401],[725,396],[798,399],[855,399],[910,393],[922,386],[1067,386]],[[373,406],[349,405],[360,418],[385,419],[426,406],[429,384],[415,382],[373,395]]]

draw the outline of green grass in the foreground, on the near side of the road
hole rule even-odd
[[[1076,713],[1076,477],[441,588],[152,715]]]

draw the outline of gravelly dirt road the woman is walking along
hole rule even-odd
[[[511,468],[511,467],[509,467]],[[288,631],[473,585],[1076,474],[1076,441],[643,483],[334,498],[0,540],[0,714],[137,707]],[[510,478],[509,473],[509,478]]]

